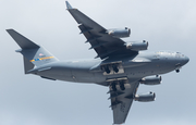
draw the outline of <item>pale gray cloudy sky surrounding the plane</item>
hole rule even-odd
[[[179,74],[162,75],[155,102],[134,102],[125,125],[196,124],[196,1],[194,0],[70,0],[73,7],[106,28],[132,28],[125,40],[149,41],[148,51],[173,50],[191,61]],[[0,0],[0,125],[111,125],[108,88],[51,82],[24,75],[17,45],[7,34],[14,28],[47,48],[60,60],[94,58],[78,35],[64,0]]]

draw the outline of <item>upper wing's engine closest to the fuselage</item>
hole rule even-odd
[[[126,43],[126,49],[131,49],[134,51],[139,51],[139,50],[147,50],[148,48],[148,41],[143,40],[143,41],[132,41]]]

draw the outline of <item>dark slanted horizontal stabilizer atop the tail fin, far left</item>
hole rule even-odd
[[[15,40],[15,42],[22,48],[22,49],[34,49],[39,48],[38,45],[34,43],[26,37],[22,36],[14,29],[7,29],[7,32],[10,34],[10,36]]]

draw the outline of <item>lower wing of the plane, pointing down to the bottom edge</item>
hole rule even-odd
[[[125,90],[112,91],[110,88],[109,99],[111,99],[111,109],[113,110],[113,124],[125,122],[138,85],[138,82],[130,82],[130,84],[125,84]]]

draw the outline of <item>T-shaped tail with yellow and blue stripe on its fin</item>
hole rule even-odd
[[[15,32],[14,29],[7,29],[7,32],[21,47],[21,49],[16,50],[16,52],[23,54],[25,74],[27,74],[28,71],[33,70],[34,67],[38,67],[44,64],[58,61],[58,59],[54,58],[45,48],[30,41],[26,37]]]

